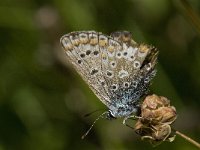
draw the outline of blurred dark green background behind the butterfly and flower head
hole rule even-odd
[[[171,149],[195,147],[178,137],[153,148],[106,108],[70,67],[59,44],[77,30],[128,30],[160,51],[151,92],[176,106],[174,127],[200,141],[200,1],[1,0],[0,150]],[[132,122],[134,125],[134,122]]]

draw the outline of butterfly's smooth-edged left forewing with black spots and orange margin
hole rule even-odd
[[[102,73],[102,51],[105,42],[101,33],[94,31],[72,32],[64,35],[60,42],[67,58],[89,85],[96,96],[107,106],[110,93]]]

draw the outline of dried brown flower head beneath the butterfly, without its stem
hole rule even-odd
[[[176,109],[170,101],[155,94],[147,96],[141,106],[141,118],[135,124],[135,132],[152,144],[173,141],[171,124],[176,120]]]

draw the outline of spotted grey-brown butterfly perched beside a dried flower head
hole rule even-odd
[[[156,75],[155,47],[136,43],[128,31],[110,36],[77,31],[62,36],[60,42],[74,69],[108,107],[107,118],[129,118],[138,112]]]

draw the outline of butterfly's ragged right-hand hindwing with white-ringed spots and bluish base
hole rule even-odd
[[[147,93],[155,76],[158,51],[137,44],[130,32],[115,32],[102,50],[102,74],[106,81],[113,116],[127,116],[136,111],[139,99]],[[106,38],[104,38],[106,40]]]

